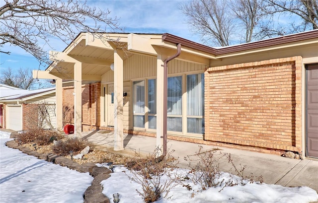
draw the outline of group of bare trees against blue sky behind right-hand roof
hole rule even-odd
[[[214,46],[318,29],[318,0],[192,0],[180,9],[191,31]],[[279,22],[288,15],[290,24]]]

